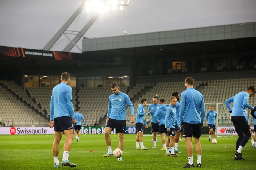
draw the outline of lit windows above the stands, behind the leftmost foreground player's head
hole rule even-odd
[[[55,87],[60,83],[60,77],[58,76],[24,76],[24,87]],[[69,86],[76,87],[76,77],[71,77]]]

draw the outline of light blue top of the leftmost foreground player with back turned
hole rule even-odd
[[[75,119],[72,102],[72,88],[61,82],[53,88],[50,104],[50,119],[68,116]]]

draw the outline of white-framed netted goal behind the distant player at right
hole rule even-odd
[[[216,118],[216,137],[232,137],[234,129],[231,128],[230,115],[227,114],[227,109],[223,103],[205,103],[205,120],[204,126],[207,125],[206,113],[210,110],[210,106],[215,107],[217,112]]]

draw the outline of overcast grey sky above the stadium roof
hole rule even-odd
[[[96,0],[95,0],[96,1]],[[82,0],[1,0],[0,45],[42,49]],[[125,1],[127,2],[127,0]],[[256,21],[256,0],[130,0],[124,10],[102,13],[84,34],[88,38],[169,31]],[[69,30],[80,29],[93,12],[83,10]],[[63,35],[51,50],[62,51]],[[81,40],[77,45],[82,48]],[[71,52],[78,52],[74,47]]]

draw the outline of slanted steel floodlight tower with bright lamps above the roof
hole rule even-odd
[[[65,52],[69,52],[74,46],[76,46],[81,52],[82,50],[76,45],[76,43],[83,37],[86,31],[100,16],[101,12],[105,10],[116,10],[119,6],[120,10],[123,10],[124,6],[128,6],[130,0],[125,3],[123,0],[83,0],[83,3],[75,11],[75,13],[67,20],[67,22],[59,29],[59,31],[52,37],[52,39],[44,46],[44,50],[50,50],[53,45],[59,40],[62,34],[70,41],[69,44],[63,49]],[[76,17],[82,10],[85,9],[87,12],[94,11],[95,15],[87,22],[81,31],[70,31],[67,28],[74,22]],[[73,34],[75,37],[71,40],[66,34]]]

